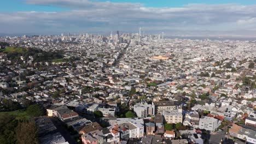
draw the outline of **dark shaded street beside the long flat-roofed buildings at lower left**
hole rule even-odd
[[[55,118],[51,117],[51,121],[54,123],[55,127],[57,128],[57,131],[61,133],[61,135],[64,137],[64,139],[69,143],[69,144],[76,144],[77,142],[71,137],[70,133],[63,127],[63,123]]]

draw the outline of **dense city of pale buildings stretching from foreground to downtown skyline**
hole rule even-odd
[[[0,117],[30,125],[31,141],[256,143],[256,41],[119,32],[0,41]]]

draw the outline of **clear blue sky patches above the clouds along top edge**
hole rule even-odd
[[[44,1],[44,0],[41,0]],[[104,2],[103,0],[100,0]],[[145,7],[183,7],[187,4],[202,3],[202,4],[227,4],[237,3],[242,5],[256,4],[255,0],[108,0],[117,3],[142,3]],[[15,11],[66,11],[69,8],[57,7],[53,5],[33,5],[26,4],[24,0],[3,0],[0,4],[0,11],[2,12],[15,12]]]

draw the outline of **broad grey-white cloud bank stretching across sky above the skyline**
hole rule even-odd
[[[256,5],[189,4],[182,8],[149,8],[139,3],[89,0],[26,0],[28,4],[56,5],[59,12],[0,13],[0,32],[22,31],[134,31],[144,29],[236,30],[256,28]],[[12,23],[10,25],[11,22]],[[15,27],[15,28],[14,28]],[[249,29],[248,29],[249,30]]]

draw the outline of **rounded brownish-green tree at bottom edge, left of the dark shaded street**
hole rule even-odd
[[[37,127],[33,121],[19,122],[15,130],[17,143],[39,143],[37,139]]]

